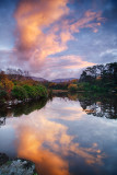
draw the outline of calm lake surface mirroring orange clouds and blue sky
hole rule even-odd
[[[117,175],[117,105],[65,95],[0,110],[0,152],[40,175]]]

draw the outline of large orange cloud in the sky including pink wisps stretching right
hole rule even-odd
[[[40,68],[50,55],[68,49],[68,42],[74,39],[73,33],[79,33],[84,27],[97,32],[103,20],[101,12],[89,10],[81,19],[71,21],[67,3],[68,0],[20,1],[14,14],[17,23],[15,48],[19,61],[28,61],[34,69]]]

